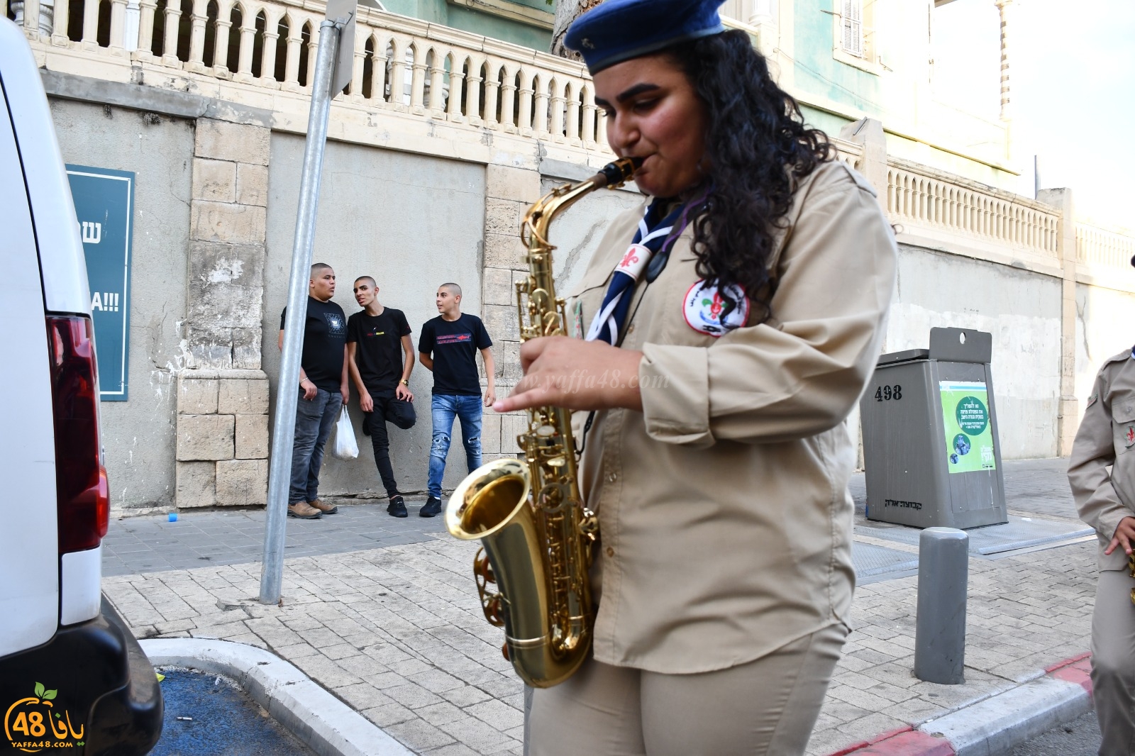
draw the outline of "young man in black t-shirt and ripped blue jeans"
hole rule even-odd
[[[461,442],[472,472],[481,467],[481,381],[477,376],[477,352],[485,360],[488,387],[485,406],[496,401],[493,339],[477,316],[461,312],[461,287],[442,284],[435,299],[442,314],[422,326],[418,359],[434,371],[434,440],[429,451],[429,482],[426,504],[418,512],[431,518],[442,511],[442,476],[449,453],[453,419],[461,420]]]

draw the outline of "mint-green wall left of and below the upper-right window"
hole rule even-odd
[[[832,0],[796,0],[796,86],[882,118],[880,82],[875,74],[832,57],[835,40]]]

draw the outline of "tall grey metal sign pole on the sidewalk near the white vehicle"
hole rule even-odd
[[[327,145],[327,120],[331,111],[331,74],[335,70],[339,24],[325,20],[319,27],[319,51],[311,86],[311,114],[303,149],[300,208],[292,244],[292,275],[288,280],[287,317],[284,321],[284,354],[280,358],[279,390],[272,426],[272,453],[268,470],[268,516],[264,523],[264,560],[260,572],[260,600],[280,599],[284,580],[284,536],[287,530],[287,498],[292,482],[292,447],[295,443],[295,406],[300,396],[300,356],[303,324],[308,317],[308,282],[311,280],[311,247],[316,241],[316,210],[319,179]]]

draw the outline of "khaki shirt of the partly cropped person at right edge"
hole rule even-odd
[[[1109,556],[1103,549],[1119,521],[1135,516],[1135,360],[1130,350],[1104,362],[1095,377],[1071,447],[1068,482],[1081,520],[1095,528],[1100,569],[1125,569],[1123,548]]]

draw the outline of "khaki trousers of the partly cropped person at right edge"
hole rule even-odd
[[[1100,573],[1092,614],[1092,689],[1103,740],[1100,756],[1135,754],[1135,579]]]

